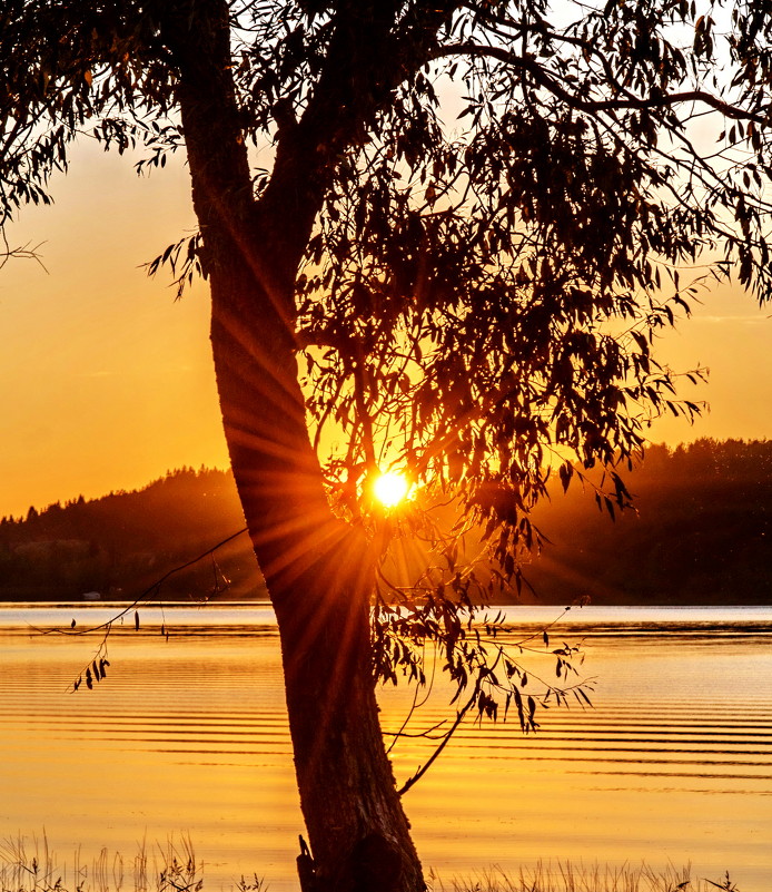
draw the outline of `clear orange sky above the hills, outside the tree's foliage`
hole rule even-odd
[[[138,178],[97,146],[26,209],[12,244],[40,247],[0,269],[0,517],[30,504],[132,489],[167,469],[225,467],[208,340],[208,295],[175,302],[169,277],[139,268],[194,228],[181,164]],[[684,390],[712,411],[665,420],[655,441],[772,437],[772,307],[724,288],[663,341],[677,367],[711,367]]]

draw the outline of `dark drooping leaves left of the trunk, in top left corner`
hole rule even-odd
[[[71,144],[96,139],[138,169],[181,145],[175,72],[159,38],[162,4],[9,0],[0,10],[0,225],[50,204]]]

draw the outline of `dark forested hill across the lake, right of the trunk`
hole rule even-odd
[[[540,597],[772,604],[772,441],[653,445],[626,482],[635,510],[614,523],[575,481],[551,490],[536,516],[551,545],[525,571]]]

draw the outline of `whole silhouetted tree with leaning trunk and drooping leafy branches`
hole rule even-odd
[[[465,638],[478,579],[452,542],[400,612],[376,585],[398,526],[368,509],[378,465],[452,492],[496,578],[519,582],[551,464],[564,487],[606,468],[613,513],[652,414],[699,410],[652,345],[700,280],[770,295],[772,4],[701,6],[3,4],[6,220],[50,200],[79,134],[143,149],[140,169],[186,154],[199,233],[150,267],[210,283],[232,469],[281,637],[304,889],[424,888],[374,666],[419,676],[402,645],[434,638],[481,712],[506,689]],[[330,427],[345,445],[319,458]]]

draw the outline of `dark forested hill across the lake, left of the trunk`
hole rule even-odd
[[[0,599],[133,599],[245,526],[230,472],[182,468],[132,492],[0,521]],[[265,597],[246,536],[167,579],[159,597]]]

